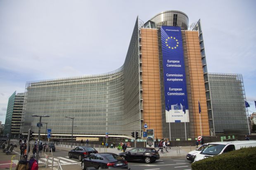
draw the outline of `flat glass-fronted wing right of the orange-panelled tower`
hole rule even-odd
[[[209,73],[215,133],[248,134],[242,75]]]

